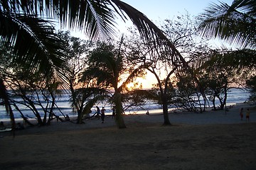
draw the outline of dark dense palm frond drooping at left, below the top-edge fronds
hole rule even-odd
[[[36,16],[0,13],[0,47],[14,51],[10,60],[26,66],[30,72],[41,72],[63,79],[68,64],[61,52],[61,40],[49,21]]]

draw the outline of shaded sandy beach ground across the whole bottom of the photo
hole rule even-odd
[[[0,133],[0,169],[256,169],[256,108],[250,122],[228,112],[125,115],[105,123],[52,123]]]

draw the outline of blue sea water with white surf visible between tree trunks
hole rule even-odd
[[[235,103],[243,103],[248,100],[250,96],[249,91],[242,90],[242,89],[231,89],[228,92],[228,98],[227,98],[227,106],[235,105]],[[68,101],[68,97],[58,98],[56,100],[56,104],[58,108],[60,108],[60,111],[63,113],[61,114],[60,111],[55,109],[55,115],[63,116],[63,115],[70,115],[70,116],[76,116],[77,113],[73,112],[72,108],[70,107],[70,101]],[[212,103],[209,103],[211,107]],[[215,105],[218,106],[219,102],[216,99]],[[100,109],[102,107],[105,107],[106,115],[112,115],[112,106],[110,106],[107,102],[100,102],[96,103],[95,106],[92,107],[92,114],[96,113],[96,106],[98,106]],[[124,105],[125,108],[125,105]],[[169,108],[169,111],[175,109],[175,108]],[[34,118],[35,115],[33,115],[32,111],[26,107],[21,108],[23,115]],[[42,110],[38,109],[39,112],[42,113]],[[150,113],[161,113],[162,107],[159,104],[153,103],[151,101],[146,101],[146,103],[143,106],[137,106],[136,108],[129,108],[124,111],[125,114],[145,114],[146,111],[149,111]],[[14,117],[16,119],[21,119],[20,113],[14,109]],[[6,114],[4,106],[0,106],[0,121],[9,120],[9,115]]]

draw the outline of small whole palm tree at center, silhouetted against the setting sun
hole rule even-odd
[[[96,86],[114,90],[110,101],[114,103],[116,108],[115,120],[117,127],[125,128],[122,118],[122,92],[127,84],[132,82],[135,77],[142,76],[142,74],[144,72],[142,72],[141,67],[132,67],[131,64],[125,61],[121,47],[115,49],[113,45],[102,42],[88,56],[88,67],[83,72],[81,81],[88,81],[88,77],[90,77],[89,80],[94,79]],[[126,79],[123,78],[125,75],[127,75]]]

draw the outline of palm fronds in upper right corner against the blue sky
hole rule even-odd
[[[242,47],[256,47],[256,1],[234,0],[211,4],[199,16],[198,28],[208,38],[221,38],[230,44]]]

